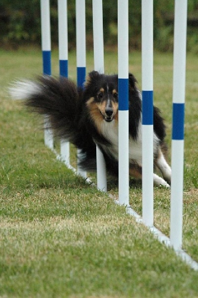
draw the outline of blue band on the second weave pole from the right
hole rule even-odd
[[[153,91],[142,91],[142,124],[153,125]]]

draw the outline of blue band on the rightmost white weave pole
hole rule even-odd
[[[173,103],[172,140],[184,140],[184,103]]]

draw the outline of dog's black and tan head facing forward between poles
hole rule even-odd
[[[111,122],[118,119],[118,75],[88,74],[85,82],[86,105],[92,119]]]

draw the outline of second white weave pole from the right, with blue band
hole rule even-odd
[[[153,0],[142,0],[142,220],[153,225]]]

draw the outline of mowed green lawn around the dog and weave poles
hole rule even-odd
[[[58,51],[52,72],[59,74]],[[75,53],[69,76],[75,80]],[[170,54],[154,55],[154,102],[172,122]],[[87,53],[87,71],[93,53]],[[117,53],[105,53],[117,73]],[[141,55],[130,53],[141,88]],[[8,98],[17,78],[42,73],[39,50],[0,51],[0,297],[196,298],[198,272],[160,244],[107,194],[97,191],[44,146],[42,119]],[[187,57],[183,248],[198,262],[198,59]],[[59,150],[59,143],[56,142]],[[75,162],[71,147],[71,162]],[[91,175],[93,181],[95,176]],[[130,181],[130,204],[141,215],[141,183]],[[116,179],[108,192],[118,194]],[[154,188],[154,221],[169,236],[170,190]]]

